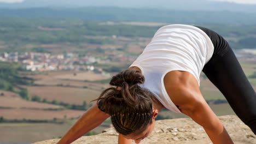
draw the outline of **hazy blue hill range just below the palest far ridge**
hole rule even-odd
[[[195,24],[215,23],[224,25],[248,25],[248,23],[252,23],[252,25],[255,25],[255,13],[242,12],[243,10],[239,10],[241,12],[237,11],[238,10],[188,10],[184,8],[180,10],[171,10],[117,7],[27,8],[0,9],[0,13],[2,14],[0,17],[1,19],[2,17],[51,17],[53,19],[58,19],[60,17],[75,17],[76,19],[86,21],[150,21]],[[43,20],[41,21],[43,22]]]

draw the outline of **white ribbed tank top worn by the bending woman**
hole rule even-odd
[[[181,113],[173,104],[164,86],[164,76],[173,70],[188,71],[200,85],[203,66],[213,55],[213,44],[200,28],[189,25],[168,25],[155,33],[152,41],[130,67],[141,69],[145,82],[155,97],[173,112]]]

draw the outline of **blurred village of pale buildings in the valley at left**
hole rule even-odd
[[[94,56],[79,57],[75,53],[51,55],[50,53],[41,52],[4,52],[0,56],[0,61],[19,62],[22,64],[22,69],[28,71],[78,70],[98,73],[101,73],[102,69],[95,68],[93,64],[103,62],[101,58]]]

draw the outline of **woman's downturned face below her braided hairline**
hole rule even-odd
[[[145,139],[146,137],[149,136],[149,134],[153,131],[155,127],[155,119],[152,120],[152,123],[148,125],[147,129],[142,131],[141,134],[138,134],[138,135],[127,135],[127,136],[124,136],[126,139],[131,139],[131,140],[134,140],[135,143],[139,143],[141,142],[141,140]]]

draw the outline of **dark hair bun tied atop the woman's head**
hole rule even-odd
[[[109,82],[112,86],[122,87],[127,83],[129,86],[142,84],[144,82],[144,76],[138,70],[128,69],[121,71],[119,74],[112,77]]]

